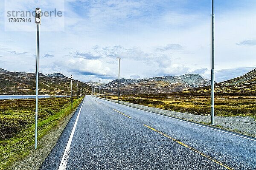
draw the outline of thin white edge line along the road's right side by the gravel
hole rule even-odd
[[[106,101],[109,101],[109,100],[106,100]],[[109,101],[109,102],[111,102],[111,101]],[[113,103],[115,103],[115,102],[113,102]],[[122,105],[122,104],[121,104],[121,105]],[[127,106],[127,105],[123,105],[123,106]],[[131,106],[127,106],[127,107],[129,107],[129,108],[134,108],[134,107],[131,107]],[[144,111],[144,110],[138,109],[138,108],[134,108],[134,109],[137,109],[137,110],[140,110],[140,111]],[[150,111],[145,111],[145,112],[153,113],[153,112],[150,112]],[[157,114],[157,113],[153,113],[153,114]],[[181,122],[186,122],[186,123],[190,123],[190,124],[192,124],[192,125],[197,125],[197,126],[201,126],[201,127],[206,127],[206,128],[208,128],[208,129],[212,129],[212,130],[220,131],[220,132],[227,133],[227,134],[230,134],[230,135],[239,136],[239,137],[244,138],[244,139],[249,139],[249,140],[252,140],[252,141],[256,141],[255,139],[247,138],[247,137],[245,137],[245,136],[240,136],[240,135],[237,135],[237,134],[235,134],[235,133],[230,133],[230,132],[226,132],[226,131],[223,131],[223,130],[215,129],[215,128],[212,128],[212,127],[208,127],[208,126],[204,126],[204,125],[199,125],[199,124],[196,124],[196,123],[193,123],[193,122],[189,122],[189,121],[177,119],[177,118],[174,118],[174,117],[171,117],[171,116],[166,116],[166,115],[162,115],[162,114],[157,114],[157,115],[164,116],[164,117],[169,117],[169,118],[171,118],[171,119],[179,120],[179,121],[181,121]]]

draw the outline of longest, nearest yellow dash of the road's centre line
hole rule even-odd
[[[209,159],[209,160],[211,160],[211,161],[213,161],[213,162],[215,162],[215,163],[221,165],[222,167],[225,167],[225,168],[227,168],[228,170],[233,170],[233,168],[228,167],[227,165],[221,163],[220,161],[217,161],[217,160],[213,159],[212,157],[205,155],[204,153],[202,153],[202,152],[200,152],[200,151],[194,149],[193,147],[191,147],[191,146],[189,146],[189,145],[187,145],[187,144],[184,144],[184,143],[180,142],[179,140],[174,139],[174,138],[172,138],[171,136],[168,136],[168,135],[166,135],[165,133],[163,133],[163,132],[161,132],[161,131],[159,131],[159,130],[154,129],[153,127],[150,127],[150,126],[145,125],[145,124],[143,124],[143,125],[144,125],[145,127],[148,127],[148,128],[151,129],[151,130],[154,130],[154,131],[157,132],[157,133],[160,133],[161,135],[163,135],[163,136],[165,136],[165,137],[167,137],[167,138],[169,138],[169,139],[172,139],[174,142],[177,142],[178,144],[181,144],[182,146],[189,148],[190,150],[194,151],[195,153],[198,153],[198,154],[200,154],[201,156],[204,156],[205,158],[207,158],[207,159]]]

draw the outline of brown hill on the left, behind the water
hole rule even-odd
[[[70,78],[55,73],[44,75],[39,73],[39,95],[70,95]],[[80,81],[73,81],[73,93],[77,93],[77,84],[86,94],[91,87]],[[11,72],[0,68],[1,95],[35,95],[35,73]]]

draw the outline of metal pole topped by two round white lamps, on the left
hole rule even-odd
[[[36,80],[35,80],[35,149],[37,148],[37,128],[38,128],[38,72],[39,72],[39,33],[41,25],[41,9],[35,8],[36,33]]]

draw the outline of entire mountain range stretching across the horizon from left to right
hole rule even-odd
[[[91,94],[91,87],[101,86],[99,82],[80,82],[73,80],[73,93],[76,85],[83,89],[84,94]],[[152,77],[148,79],[120,79],[120,94],[157,94],[171,92],[208,93],[211,81],[198,74],[181,76]],[[39,73],[39,95],[70,95],[70,78],[61,73]],[[108,94],[117,94],[118,80],[106,84]],[[215,91],[221,93],[256,93],[256,69],[249,73],[224,82],[215,82]],[[102,93],[102,92],[101,92]],[[0,95],[34,95],[35,73],[12,72],[0,68]]]

